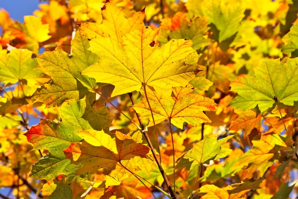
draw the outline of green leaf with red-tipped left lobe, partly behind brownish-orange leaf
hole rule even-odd
[[[41,119],[40,123],[32,126],[24,135],[33,144],[33,150],[47,149],[48,155],[33,165],[30,176],[35,179],[53,180],[59,174],[67,176],[71,181],[79,165],[71,165],[62,152],[72,142],[82,140],[80,130],[104,129],[108,132],[111,124],[109,111],[105,106],[91,109],[87,100],[69,100],[59,107],[62,122]]]

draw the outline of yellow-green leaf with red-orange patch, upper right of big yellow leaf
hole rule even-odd
[[[202,49],[210,42],[204,35],[209,30],[206,17],[195,17],[191,20],[183,12],[177,12],[172,18],[163,18],[159,26],[158,41],[161,45],[173,39],[191,39],[193,49]]]

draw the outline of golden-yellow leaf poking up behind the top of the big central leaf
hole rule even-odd
[[[130,18],[125,18],[122,8],[114,3],[105,3],[102,7],[103,21],[101,24],[85,22],[81,24],[81,29],[87,34],[89,39],[99,37],[111,37],[123,42],[123,35],[126,35],[144,26],[144,10],[136,12]]]

